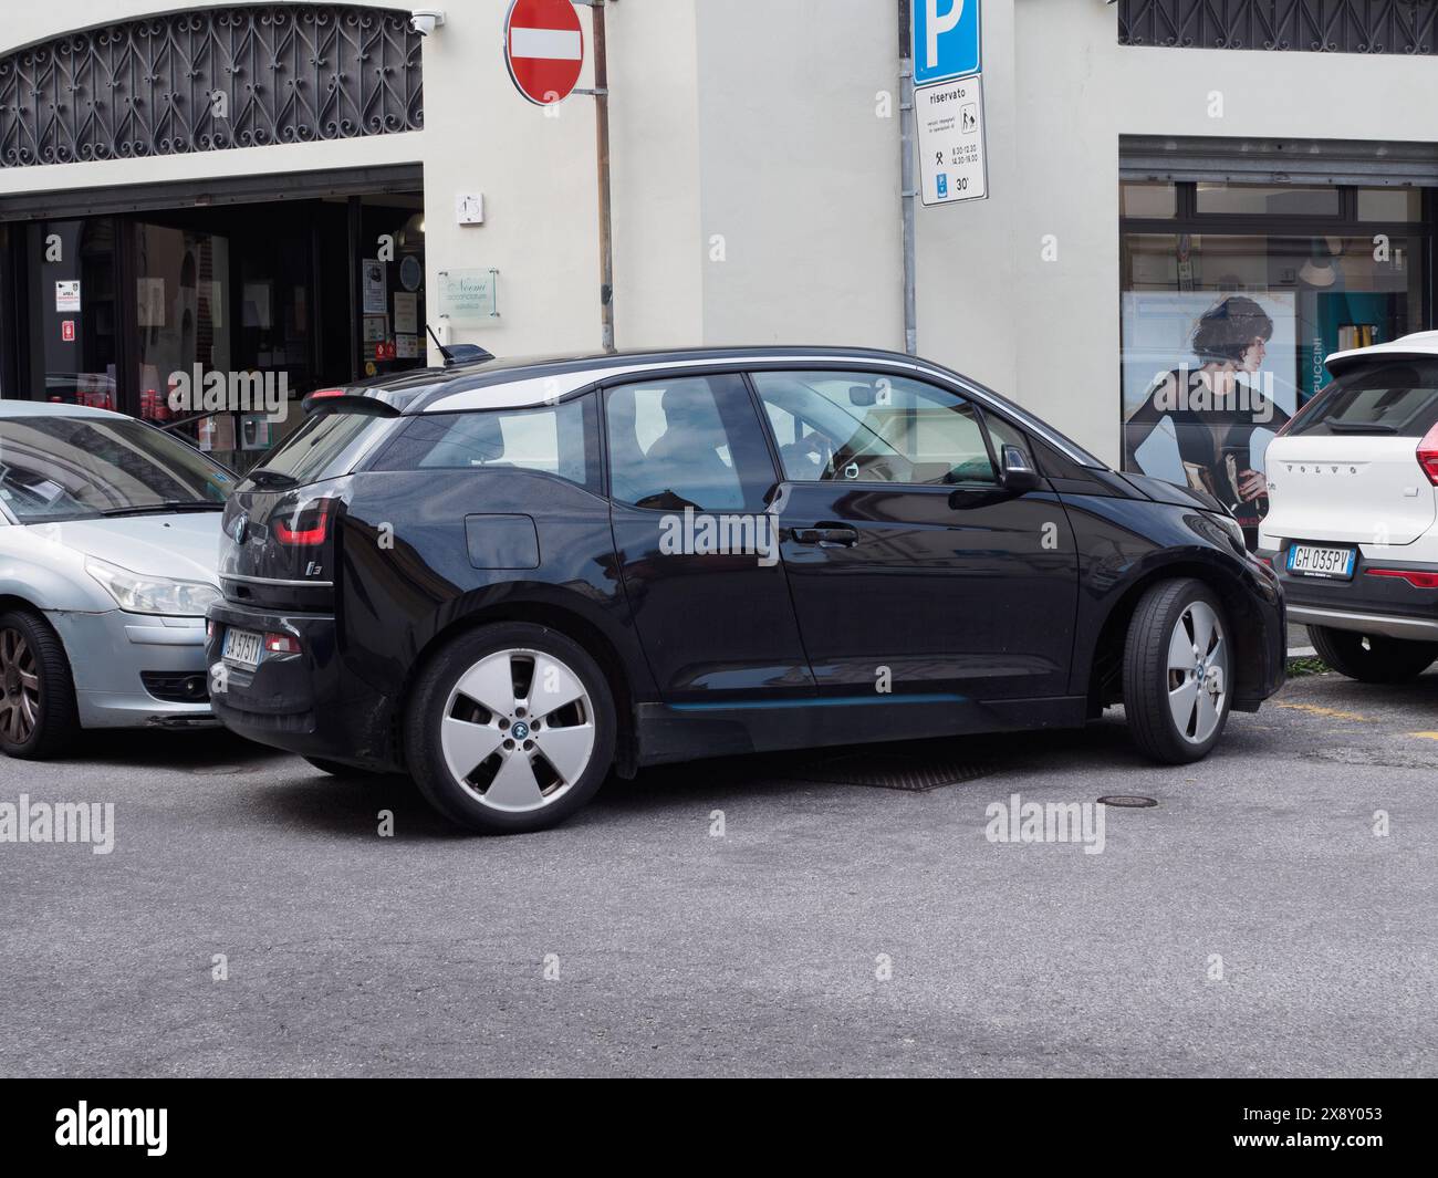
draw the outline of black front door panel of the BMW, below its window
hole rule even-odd
[[[1077,557],[1063,505],[949,499],[943,488],[784,485],[784,564],[821,690],[873,690],[889,667],[896,690],[1067,692]],[[856,542],[797,538],[835,521]]]

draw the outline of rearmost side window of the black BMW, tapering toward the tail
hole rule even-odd
[[[536,408],[418,413],[372,470],[541,470],[598,492],[594,397]]]

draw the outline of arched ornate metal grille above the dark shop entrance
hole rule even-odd
[[[408,14],[203,9],[0,58],[0,167],[385,135],[424,125]]]

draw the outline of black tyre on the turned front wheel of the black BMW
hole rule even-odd
[[[1175,719],[1173,688],[1169,667],[1169,643],[1175,627],[1181,624],[1191,606],[1206,606],[1217,618],[1225,649],[1222,667],[1222,695],[1214,706],[1217,726],[1204,734],[1201,729],[1181,729]],[[1232,629],[1227,614],[1214,593],[1202,581],[1181,577],[1152,585],[1129,620],[1129,633],[1123,646],[1123,711],[1129,721],[1133,742],[1155,761],[1166,765],[1185,765],[1205,758],[1224,735],[1232,696],[1234,673]],[[1198,657],[1195,656],[1195,663]],[[1195,682],[1199,700],[1205,692],[1202,676],[1189,675]],[[1179,680],[1182,688],[1182,680]],[[1212,699],[1212,696],[1211,696]],[[1195,703],[1196,709],[1198,703]],[[1195,719],[1198,712],[1194,712]],[[1209,716],[1209,722],[1211,722]]]

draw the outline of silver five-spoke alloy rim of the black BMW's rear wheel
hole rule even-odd
[[[444,705],[444,764],[477,801],[522,814],[551,805],[594,754],[594,703],[542,650],[500,650],[466,670]]]

